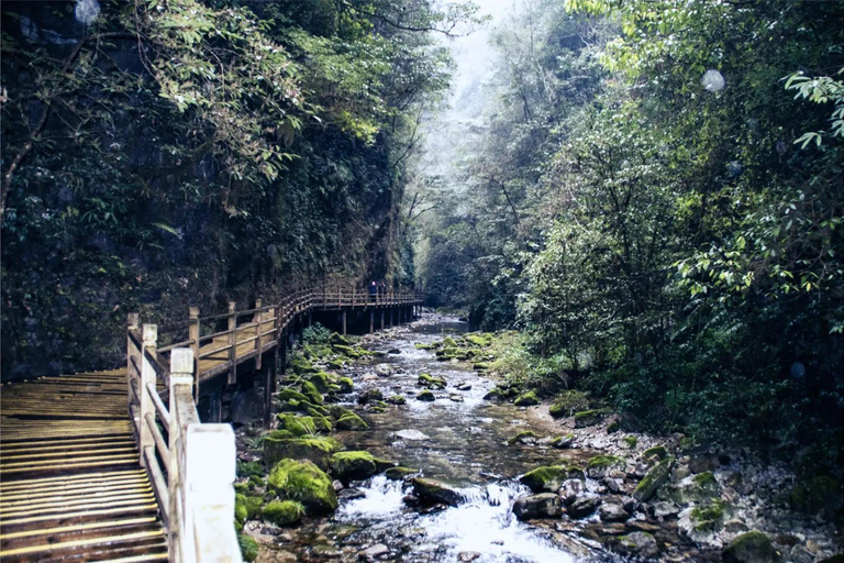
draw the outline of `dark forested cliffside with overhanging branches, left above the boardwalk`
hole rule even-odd
[[[3,2],[2,374],[118,365],[126,313],[409,286],[418,121],[476,9]]]

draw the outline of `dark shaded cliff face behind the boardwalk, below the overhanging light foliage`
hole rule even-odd
[[[400,131],[362,139],[327,124],[331,108],[295,101],[286,103],[296,120],[268,120],[274,99],[249,101],[248,84],[220,108],[212,99],[218,113],[180,108],[158,69],[166,48],[187,47],[152,32],[140,40],[125,7],[102,9],[86,27],[67,2],[2,4],[4,179],[13,172],[3,189],[3,380],[120,365],[131,311],[168,322],[189,305],[210,313],[313,280],[393,278],[402,174],[389,156]],[[309,59],[288,51],[307,88]],[[241,55],[231,63],[252,71]],[[249,156],[257,136],[284,152],[269,173]]]

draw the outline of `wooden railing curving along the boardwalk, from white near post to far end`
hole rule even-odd
[[[138,314],[130,313],[129,413],[141,464],[168,529],[171,561],[241,561],[232,526],[234,432],[229,424],[200,423],[196,404],[202,378],[227,372],[229,383],[235,384],[237,365],[251,358],[260,369],[263,353],[278,346],[284,331],[308,311],[374,311],[421,302],[422,296],[411,291],[321,288],[293,291],[277,305],[258,301],[243,311],[230,302],[226,312],[210,317],[200,317],[199,308],[191,307],[187,321],[160,330],[141,325]],[[162,333],[170,343],[158,347]],[[200,373],[203,360],[208,362]]]

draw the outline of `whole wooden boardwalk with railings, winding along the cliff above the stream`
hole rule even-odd
[[[160,347],[158,327],[133,313],[126,368],[3,385],[0,560],[240,561],[234,433],[199,421],[202,388],[220,394],[263,371],[268,417],[275,354],[284,369],[290,331],[313,312],[337,311],[345,333],[349,312],[368,314],[373,331],[376,313],[385,328],[420,305],[418,294],[322,288],[204,318],[190,308],[162,328]]]

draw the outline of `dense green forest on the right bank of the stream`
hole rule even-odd
[[[844,4],[520,5],[426,183],[432,301],[548,396],[840,467]]]

